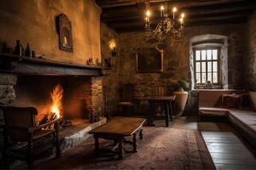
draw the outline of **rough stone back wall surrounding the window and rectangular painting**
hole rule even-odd
[[[145,94],[147,88],[162,83],[163,79],[183,79],[191,82],[189,70],[189,41],[192,37],[212,34],[228,38],[228,83],[229,88],[243,88],[241,63],[244,58],[244,28],[242,24],[220,26],[194,26],[185,28],[184,37],[175,40],[168,37],[164,51],[163,73],[137,73],[137,48],[154,48],[156,44],[149,44],[143,39],[143,32],[129,32],[119,34],[119,85],[131,82],[136,84],[137,94]],[[195,94],[195,93],[194,93]],[[195,107],[196,95],[189,102]]]

